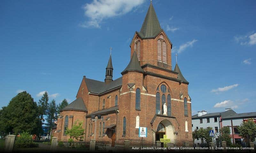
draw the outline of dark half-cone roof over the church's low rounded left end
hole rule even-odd
[[[61,111],[65,111],[65,110],[76,110],[76,111],[87,112],[87,108],[83,102],[83,98],[81,97],[75,99],[72,103],[64,107]]]

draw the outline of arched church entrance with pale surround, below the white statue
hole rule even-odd
[[[174,132],[172,123],[164,119],[158,124],[155,132],[155,141],[160,141],[160,139],[164,138],[164,135],[167,135],[167,139],[171,139],[171,143],[174,143]]]

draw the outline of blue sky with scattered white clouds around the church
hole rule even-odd
[[[114,2],[115,1],[115,2]],[[190,82],[199,110],[255,112],[256,1],[153,0]],[[149,0],[0,1],[0,107],[20,91],[38,102],[75,99],[82,77],[104,81],[112,47],[113,78],[130,58]]]

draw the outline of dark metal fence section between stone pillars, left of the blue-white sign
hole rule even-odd
[[[111,143],[108,141],[96,141],[95,142],[95,150],[101,151],[124,151],[124,142],[115,142]]]

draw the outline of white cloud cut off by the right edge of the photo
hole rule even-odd
[[[245,36],[234,36],[234,39],[240,45],[256,45],[256,33],[250,33]]]

